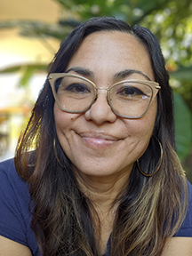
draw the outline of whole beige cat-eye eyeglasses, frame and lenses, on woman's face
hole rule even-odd
[[[145,80],[124,80],[99,87],[89,79],[68,73],[52,73],[48,76],[52,93],[58,106],[69,113],[82,113],[97,100],[98,90],[107,91],[108,105],[117,116],[140,118],[161,89],[158,83]]]

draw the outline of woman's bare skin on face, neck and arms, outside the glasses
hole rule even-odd
[[[125,69],[136,69],[145,76],[133,74],[125,79],[155,81],[148,52],[133,36],[122,32],[98,32],[87,36],[68,68],[91,71],[85,76],[98,87],[108,88],[118,82],[114,76]],[[78,72],[70,71],[81,75]],[[61,147],[73,164],[73,170],[84,193],[92,199],[101,221],[100,249],[104,253],[111,233],[116,195],[129,180],[132,165],[148,147],[156,119],[156,99],[140,119],[125,119],[111,110],[106,92],[82,114],[69,114],[54,106],[56,130]],[[97,233],[97,230],[96,230]],[[0,236],[0,255],[29,256],[28,247]],[[192,255],[191,237],[173,237],[162,256]]]

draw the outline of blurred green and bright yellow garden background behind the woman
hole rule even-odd
[[[6,0],[0,2],[0,160],[20,131],[60,42],[80,22],[113,16],[159,39],[174,92],[177,153],[192,181],[191,0]]]

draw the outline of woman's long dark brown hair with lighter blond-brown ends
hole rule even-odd
[[[122,31],[140,40],[148,51],[156,82],[161,85],[152,138],[162,143],[163,162],[149,178],[140,174],[136,164],[133,166],[129,184],[116,198],[119,207],[110,240],[111,256],[157,256],[185,217],[187,185],[175,153],[172,89],[156,37],[147,28],[131,28],[115,18],[94,18],[76,27],[61,44],[50,72],[64,72],[84,37],[101,30]],[[60,147],[53,105],[51,86],[46,80],[15,156],[17,172],[29,183],[31,228],[43,256],[99,256],[92,227],[92,202],[79,189],[68,156]],[[152,141],[140,164],[151,172],[159,157]]]

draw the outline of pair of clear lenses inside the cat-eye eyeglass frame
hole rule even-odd
[[[92,83],[72,76],[57,79],[55,91],[60,106],[70,112],[84,112],[97,94]],[[117,115],[136,117],[146,111],[152,96],[153,90],[148,84],[126,81],[110,86],[108,102]]]

